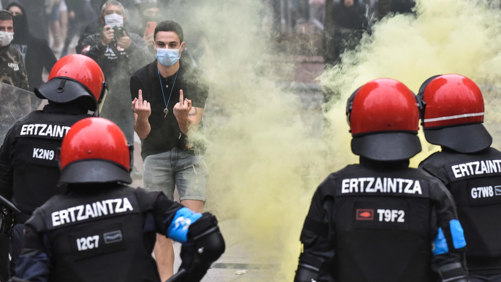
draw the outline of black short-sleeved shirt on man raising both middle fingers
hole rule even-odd
[[[183,91],[184,98],[191,100],[193,107],[202,109],[205,107],[209,92],[209,86],[202,71],[183,60],[180,60],[177,77],[173,75],[166,79],[161,78],[163,94],[159,77],[157,60],[155,60],[136,71],[130,78],[132,100],[138,97],[141,89],[143,100],[148,101],[151,106],[151,115],[148,118],[151,131],[141,146],[143,159],[149,155],[167,152],[172,148],[187,147],[186,136],[179,129],[173,111],[174,105],[179,102],[179,90]],[[170,101],[169,96],[171,96]],[[163,112],[165,103],[168,103],[169,109],[167,117]]]

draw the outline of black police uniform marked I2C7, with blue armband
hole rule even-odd
[[[163,192],[116,183],[71,185],[69,194],[52,197],[26,222],[14,281],[160,281],[151,256],[156,233],[186,242],[183,281],[201,279],[224,251],[214,216],[193,213]],[[201,242],[203,236],[210,243]],[[201,274],[190,261],[195,253],[209,257]]]

